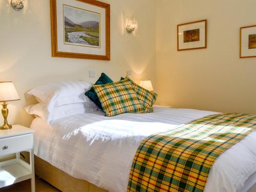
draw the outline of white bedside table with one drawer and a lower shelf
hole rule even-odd
[[[31,191],[35,192],[33,132],[22,125],[0,130],[0,157],[16,154],[15,159],[0,162],[0,188],[31,179]],[[24,151],[30,153],[30,164],[20,159]]]

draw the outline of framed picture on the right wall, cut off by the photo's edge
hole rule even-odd
[[[256,25],[240,28],[240,58],[256,57]]]

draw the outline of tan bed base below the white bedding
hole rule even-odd
[[[35,156],[35,174],[63,192],[108,192],[87,181],[76,179]]]

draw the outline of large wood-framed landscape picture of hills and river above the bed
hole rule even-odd
[[[110,5],[50,0],[52,56],[110,60]]]

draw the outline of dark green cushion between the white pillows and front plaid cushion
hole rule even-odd
[[[111,83],[111,82],[113,82],[113,80],[111,78],[109,78],[108,75],[101,73],[101,76],[96,81],[95,85],[106,84],[106,83]],[[85,95],[88,96],[102,110],[102,106],[99,101],[99,98],[93,88],[91,88],[89,91],[87,91],[85,93]]]

